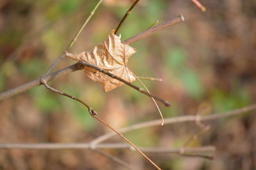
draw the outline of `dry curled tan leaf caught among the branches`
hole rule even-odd
[[[90,52],[81,52],[79,54],[67,52],[66,55],[73,60],[88,62],[98,66],[126,81],[135,81],[136,78],[127,67],[127,62],[131,55],[136,52],[136,49],[123,44],[121,42],[121,35],[116,36],[113,34],[114,31],[115,30],[109,34],[108,39],[95,46]],[[84,67],[84,72],[93,81],[100,83],[100,85],[104,87],[105,92],[113,90],[124,84],[122,81],[100,73],[92,67]]]

